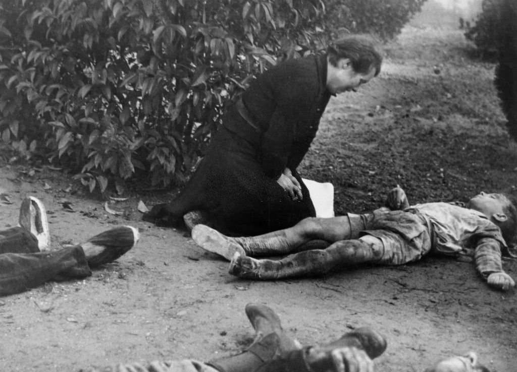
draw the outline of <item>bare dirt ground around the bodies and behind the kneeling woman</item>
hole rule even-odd
[[[387,45],[379,77],[332,99],[302,164],[304,176],[334,184],[338,214],[378,206],[396,184],[415,202],[465,201],[480,190],[517,194],[517,147],[493,89],[495,65],[472,57],[454,18],[419,17]],[[423,371],[469,350],[491,371],[515,371],[515,291],[490,289],[472,262],[427,257],[318,279],[251,282],[230,276],[227,262],[184,231],[140,220],[140,200],[150,206],[174,190],[133,192],[111,202],[124,212],[112,215],[71,176],[8,161],[0,163],[0,188],[13,202],[0,203],[0,225],[16,224],[22,198],[36,196],[47,206],[54,248],[120,224],[141,231],[137,247],[86,280],[0,298],[2,371],[234,354],[251,340],[248,302],[270,305],[302,344],[375,328],[388,339],[378,371]],[[517,262],[504,265],[517,279]]]

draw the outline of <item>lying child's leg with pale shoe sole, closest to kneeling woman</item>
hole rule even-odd
[[[358,228],[351,228],[348,216],[306,218],[292,228],[253,237],[229,237],[206,225],[195,225],[192,239],[201,248],[231,260],[235,252],[248,256],[284,255],[300,251],[312,240],[335,242],[357,237]],[[357,231],[355,231],[357,230]]]

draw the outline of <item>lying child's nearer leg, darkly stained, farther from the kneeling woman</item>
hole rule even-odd
[[[256,260],[235,253],[229,272],[240,278],[262,280],[320,276],[349,265],[378,262],[383,253],[382,240],[367,235],[354,240],[339,240],[327,249],[295,253],[281,260]]]

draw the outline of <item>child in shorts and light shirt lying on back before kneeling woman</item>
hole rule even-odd
[[[402,265],[430,252],[458,255],[474,250],[477,270],[489,285],[502,290],[515,285],[501,264],[501,253],[517,257],[517,249],[509,247],[517,230],[517,209],[505,195],[481,192],[467,205],[409,206],[404,190],[396,187],[386,204],[371,214],[307,218],[292,228],[255,237],[227,237],[200,224],[192,238],[230,260],[230,273],[240,278],[314,276],[363,263]],[[308,242],[317,239],[330,245],[310,249]],[[251,257],[261,255],[287,256]]]

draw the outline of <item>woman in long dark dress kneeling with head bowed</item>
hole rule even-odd
[[[144,219],[178,221],[199,210],[219,231],[256,235],[314,217],[296,168],[330,96],[367,83],[379,73],[381,63],[370,39],[348,36],[332,43],[325,54],[271,67],[229,108],[179,196],[155,205]]]

